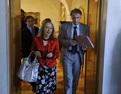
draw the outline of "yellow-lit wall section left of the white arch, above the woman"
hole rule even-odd
[[[45,18],[51,18],[55,31],[59,30],[60,0],[21,0],[25,12],[40,12],[40,24]]]

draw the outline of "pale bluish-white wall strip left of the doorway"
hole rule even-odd
[[[6,25],[6,2],[0,0],[0,94],[9,94],[8,83],[8,59],[7,59],[7,25]]]

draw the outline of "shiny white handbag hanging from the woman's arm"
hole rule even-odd
[[[34,61],[31,62],[30,56],[34,51],[30,53],[27,58],[23,59],[23,62],[18,70],[17,76],[27,82],[36,82],[38,77],[38,67],[39,63],[37,57],[34,58]]]

